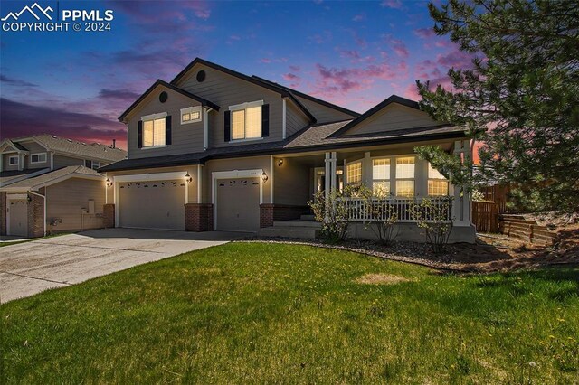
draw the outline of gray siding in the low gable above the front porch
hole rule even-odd
[[[367,118],[356,127],[348,130],[344,135],[373,134],[404,128],[436,126],[439,124],[439,122],[433,120],[426,112],[399,104],[391,104],[381,112],[376,113],[374,117]]]

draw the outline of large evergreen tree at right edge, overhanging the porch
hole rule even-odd
[[[422,108],[482,140],[483,176],[519,186],[534,210],[579,211],[579,2],[450,0],[429,5],[439,35],[476,59],[451,69],[452,89],[417,81]],[[454,183],[470,173],[417,148]]]

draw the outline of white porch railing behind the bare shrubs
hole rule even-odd
[[[347,209],[350,216],[350,221],[384,221],[386,215],[395,214],[398,222],[415,222],[413,216],[413,206],[418,205],[421,212],[421,218],[426,221],[432,220],[432,212],[428,207],[421,206],[420,203],[424,199],[428,199],[432,202],[433,206],[443,207],[444,212],[442,216],[445,220],[451,221],[452,219],[452,198],[448,196],[441,197],[429,197],[429,198],[386,198],[386,199],[373,199],[373,205],[378,206],[383,205],[379,210],[372,210],[367,207],[367,201],[364,198],[342,198],[347,202]],[[375,207],[376,209],[376,207]],[[378,215],[376,215],[378,214]],[[382,217],[382,218],[380,218]]]

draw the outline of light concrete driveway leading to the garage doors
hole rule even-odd
[[[5,246],[0,248],[0,303],[247,235],[107,229]]]

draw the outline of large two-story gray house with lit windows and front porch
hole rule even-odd
[[[100,168],[111,186],[109,226],[257,231],[307,213],[315,192],[365,183],[402,208],[400,239],[422,239],[410,202],[450,195],[451,240],[474,241],[469,194],[413,151],[466,153],[464,129],[432,120],[412,100],[392,96],[360,115],[195,59],[170,83],[157,80],[119,120],[128,158]],[[352,234],[370,237],[356,215]]]

